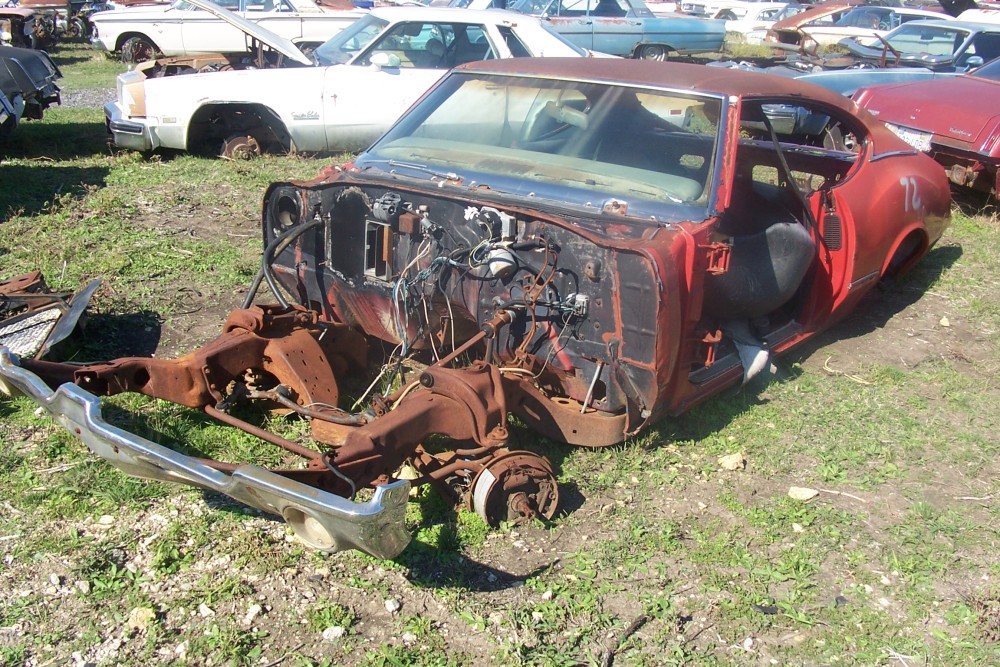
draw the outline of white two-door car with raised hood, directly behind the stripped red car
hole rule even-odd
[[[258,49],[245,64],[164,59],[119,75],[118,99],[104,107],[118,146],[221,151],[228,157],[360,149],[455,65],[597,55],[523,14],[380,7],[317,48],[310,60],[290,41],[223,9],[214,11],[271,50]]]

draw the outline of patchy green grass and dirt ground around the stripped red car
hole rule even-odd
[[[55,55],[67,89],[110,88],[120,71],[83,47]],[[330,161],[121,152],[99,109],[71,108],[18,128],[0,159],[4,274],[104,281],[88,354],[183,329],[191,290],[237,303],[263,188]],[[0,665],[74,653],[102,665],[997,664],[998,244],[995,218],[956,209],[912,274],[782,360],[778,381],[622,445],[516,431],[518,448],[556,464],[566,511],[489,529],[422,489],[414,541],[393,562],[308,552],[279,522],[129,478],[30,402],[0,400]],[[162,402],[116,397],[105,413],[190,452],[277,462]],[[734,452],[745,470],[720,467]],[[804,503],[790,486],[820,493]],[[153,610],[143,630],[127,627],[134,609]],[[330,627],[345,632],[324,639]]]

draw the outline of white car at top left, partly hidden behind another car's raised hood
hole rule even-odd
[[[130,63],[158,54],[246,51],[243,31],[205,11],[205,2],[176,0],[167,6],[98,12],[90,17],[91,43],[104,51],[120,52],[122,60]],[[352,9],[330,9],[315,0],[218,0],[213,6],[228,9],[303,47],[322,44],[366,13],[353,9],[347,0],[344,7]]]

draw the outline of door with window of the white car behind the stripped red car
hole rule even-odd
[[[478,57],[466,59],[467,45]],[[349,65],[327,68],[329,150],[367,148],[455,64],[496,57],[480,25],[412,21],[382,34]]]

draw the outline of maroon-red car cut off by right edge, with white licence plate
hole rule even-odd
[[[941,163],[953,183],[1000,191],[1000,58],[962,76],[864,88],[854,100]]]

